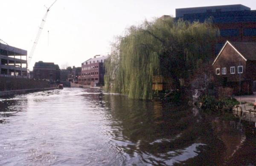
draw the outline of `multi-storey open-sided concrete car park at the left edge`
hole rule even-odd
[[[27,51],[0,43],[0,77],[27,78]]]

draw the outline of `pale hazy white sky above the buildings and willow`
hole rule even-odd
[[[41,20],[54,0],[1,0],[0,39],[30,55]],[[107,55],[111,43],[131,25],[175,8],[243,4],[256,10],[255,0],[57,0],[50,8],[29,69],[35,62],[60,68],[81,66],[95,55]],[[49,33],[48,33],[49,31]]]

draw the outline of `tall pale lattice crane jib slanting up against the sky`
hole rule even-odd
[[[43,30],[43,28],[44,28],[44,24],[45,24],[46,19],[47,19],[47,14],[48,14],[48,12],[50,11],[50,8],[54,5],[54,3],[55,3],[56,1],[57,1],[57,0],[55,0],[55,1],[52,3],[52,5],[51,5],[49,8],[47,8],[46,13],[44,14],[44,17],[43,17],[43,19],[42,19],[42,21],[41,21],[41,25],[40,25],[40,27],[39,27],[38,33],[37,33],[37,35],[36,35],[36,37],[35,37],[35,41],[34,41],[34,43],[33,43],[33,46],[32,46],[32,48],[31,48],[31,51],[30,51],[29,59],[28,59],[28,62],[27,62],[28,65],[30,64],[30,62],[31,62],[31,60],[32,60],[32,57],[33,57],[33,55],[34,55],[35,48],[36,48],[36,46],[37,46],[37,44],[38,44],[38,40],[39,40],[39,38],[40,38],[40,36],[41,36],[42,30]]]

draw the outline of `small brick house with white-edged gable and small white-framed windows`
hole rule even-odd
[[[256,42],[227,41],[212,64],[224,87],[234,93],[256,91]]]

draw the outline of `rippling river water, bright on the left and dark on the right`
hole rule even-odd
[[[0,166],[250,166],[255,152],[236,122],[192,107],[81,88],[0,98]]]

